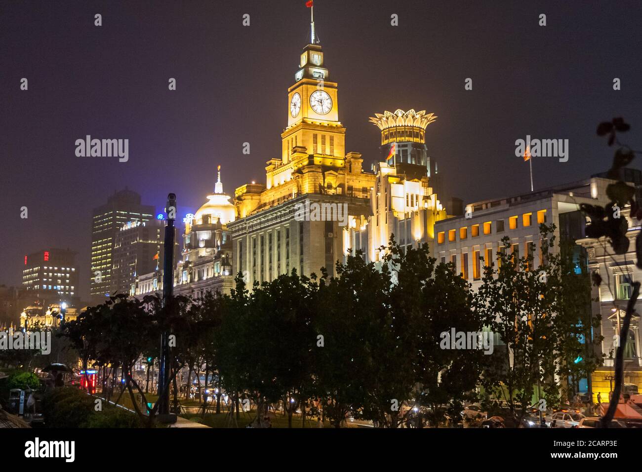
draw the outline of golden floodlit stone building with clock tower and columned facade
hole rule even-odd
[[[265,185],[246,184],[234,194],[233,268],[249,286],[292,269],[309,275],[325,267],[333,274],[372,213],[375,176],[362,170],[360,153],[345,153],[338,84],[329,80],[314,34],[311,41],[288,88],[281,156],[267,162]]]

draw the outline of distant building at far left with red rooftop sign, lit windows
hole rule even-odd
[[[43,249],[24,256],[22,287],[32,301],[43,305],[80,301],[76,252],[69,249]]]

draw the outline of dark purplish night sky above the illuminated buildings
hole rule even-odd
[[[569,139],[568,162],[534,158],[535,189],[609,167],[612,150],[595,134],[603,119],[623,116],[641,146],[641,23],[638,0],[315,0],[346,151],[363,153],[369,170],[379,156],[369,116],[434,112],[429,155],[465,202],[530,189],[515,156],[527,134]],[[1,2],[0,284],[21,283],[24,254],[69,247],[87,299],[91,211],[115,190],[158,211],[175,192],[182,218],[213,190],[217,164],[226,193],[265,182],[308,38],[305,0]],[[76,157],[87,134],[129,139],[129,161]]]

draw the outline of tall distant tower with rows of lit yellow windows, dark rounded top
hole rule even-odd
[[[91,237],[92,302],[100,303],[112,290],[112,266],[116,236],[127,222],[153,219],[153,205],[142,205],[141,196],[125,189],[115,192],[107,203],[94,209]]]

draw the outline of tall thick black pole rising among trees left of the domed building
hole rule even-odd
[[[176,219],[176,194],[167,196],[167,225],[165,226],[164,261],[162,274],[162,305],[169,313],[174,294],[174,220]],[[175,423],[176,415],[169,414],[169,369],[171,349],[169,333],[164,331],[160,339],[159,360],[159,421]]]

